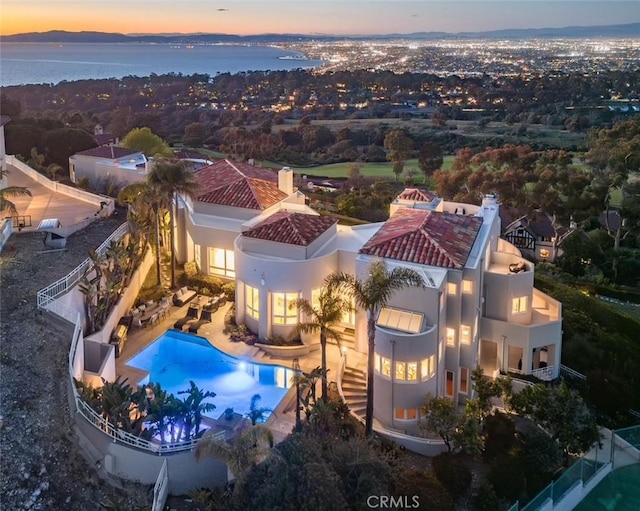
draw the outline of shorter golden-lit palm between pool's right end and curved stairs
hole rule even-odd
[[[320,348],[322,350],[322,400],[328,399],[327,385],[327,340],[336,341],[340,347],[340,333],[333,325],[342,320],[345,312],[349,312],[351,304],[332,289],[322,288],[318,297],[318,304],[314,307],[306,298],[299,298],[291,305],[297,307],[308,319],[298,323],[297,330],[301,333],[320,332]]]

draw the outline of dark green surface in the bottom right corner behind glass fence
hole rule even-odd
[[[618,468],[589,492],[575,511],[638,511],[640,463]]]

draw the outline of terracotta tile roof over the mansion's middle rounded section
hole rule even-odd
[[[336,219],[327,216],[278,211],[242,234],[249,238],[306,247],[337,223]]]

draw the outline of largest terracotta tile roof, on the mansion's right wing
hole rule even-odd
[[[360,249],[360,253],[462,269],[481,225],[481,218],[469,215],[400,209]]]

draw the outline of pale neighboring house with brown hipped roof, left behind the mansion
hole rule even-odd
[[[141,151],[115,145],[94,147],[69,157],[71,181],[77,183],[87,177],[94,186],[145,181],[149,167],[149,160]]]

